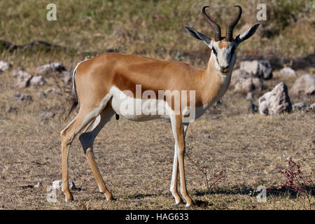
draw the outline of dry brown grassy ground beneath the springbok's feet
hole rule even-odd
[[[298,75],[312,73],[297,71]],[[274,72],[264,81],[265,89],[255,92],[255,103],[262,93],[283,80],[288,88],[294,78],[281,78]],[[169,192],[174,155],[170,123],[153,120],[134,123],[115,117],[104,127],[94,144],[94,155],[107,187],[117,198],[106,202],[100,195],[78,139],[69,154],[69,179],[76,183],[74,202],[64,202],[57,190],[57,202],[47,201],[48,187],[61,179],[59,132],[71,118],[63,120],[69,102],[62,95],[40,97],[52,87],[15,88],[10,71],[1,74],[0,115],[0,209],[186,209],[174,207]],[[14,94],[31,94],[33,102],[18,102]],[[278,189],[286,179],[278,173],[292,156],[302,166],[305,176],[314,180],[315,113],[303,110],[280,116],[248,113],[246,94],[230,88],[222,104],[214,105],[204,116],[188,127],[186,137],[186,179],[188,192],[197,205],[188,209],[303,209],[296,195],[267,193],[267,202],[257,202],[253,190],[258,186]],[[310,98],[291,98],[293,103]],[[8,106],[18,108],[8,113]],[[56,113],[41,120],[43,111]],[[75,116],[75,111],[71,116]],[[210,191],[216,174],[225,177]],[[33,188],[37,182],[42,187]],[[314,208],[314,196],[313,196]]]

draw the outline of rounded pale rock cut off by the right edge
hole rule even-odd
[[[315,77],[310,74],[304,74],[297,78],[290,88],[290,94],[315,94]]]

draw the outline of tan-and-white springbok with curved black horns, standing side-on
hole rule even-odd
[[[255,34],[259,24],[253,25],[244,33],[233,38],[233,29],[241,18],[241,7],[235,6],[238,13],[230,21],[226,29],[226,36],[221,36],[221,27],[212,20],[206,13],[206,8],[202,8],[202,15],[209,25],[214,28],[214,39],[196,31],[193,28],[185,27],[186,31],[199,41],[203,41],[211,49],[207,69],[200,69],[186,62],[172,62],[151,59],[147,57],[125,55],[117,52],[106,52],[92,59],[79,62],[73,70],[73,92],[75,102],[69,114],[78,106],[80,110],[69,125],[60,133],[62,140],[62,189],[66,202],[72,201],[73,196],[69,191],[68,184],[68,158],[69,148],[73,138],[82,131],[79,140],[88,163],[94,174],[94,178],[99,187],[100,193],[106,196],[106,200],[114,200],[113,195],[106,188],[102,175],[99,172],[94,160],[93,143],[97,134],[111,117],[116,114],[128,120],[145,121],[157,118],[169,118],[171,120],[172,132],[174,134],[174,165],[172,170],[172,181],[170,191],[175,199],[175,204],[183,202],[181,196],[186,201],[186,207],[193,204],[193,200],[188,195],[186,189],[184,155],[185,137],[190,122],[202,116],[211,104],[220,99],[230,85],[231,73],[235,65],[235,49],[242,41]],[[186,106],[175,113],[174,102],[166,101],[165,98],[144,99],[143,95],[137,96],[136,87],[141,85],[141,93],[144,90],[152,90],[157,93],[162,90],[168,93],[166,97],[172,98],[174,91],[194,92],[194,99],[190,99],[192,93],[180,96],[180,100],[185,98]],[[132,94],[125,94],[125,91]],[[136,92],[136,94],[135,94]],[[122,99],[122,95],[125,99]],[[173,96],[174,97],[174,96]],[[137,111],[137,101],[140,102],[162,102],[166,109],[164,115],[157,115],[155,111],[150,113],[124,114],[122,105],[125,101],[135,105]],[[193,105],[193,102],[194,104]],[[156,110],[154,106],[152,109]],[[148,112],[146,111],[146,112]],[[195,113],[194,118],[186,119],[188,114]],[[181,196],[177,190],[177,179],[179,173]]]

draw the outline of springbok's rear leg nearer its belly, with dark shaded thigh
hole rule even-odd
[[[111,201],[113,200],[113,195],[111,192],[106,188],[104,180],[102,178],[102,174],[99,172],[97,167],[97,163],[94,159],[93,153],[93,144],[94,139],[97,137],[97,134],[102,130],[104,125],[111,120],[111,117],[115,114],[111,106],[107,106],[102,113],[95,118],[84,130],[83,134],[80,134],[80,143],[83,147],[83,151],[86,155],[87,161],[90,164],[92,169],[92,173],[94,174],[95,181],[97,182],[97,186],[99,187],[99,191],[106,195],[106,200]]]

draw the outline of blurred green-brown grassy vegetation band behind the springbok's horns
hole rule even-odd
[[[22,45],[47,41],[76,52],[116,49],[130,54],[169,59],[169,52],[209,54],[207,46],[186,34],[188,25],[208,36],[213,30],[202,17],[202,6],[225,27],[239,4],[243,14],[234,34],[260,22],[258,33],[244,42],[239,55],[297,57],[314,52],[313,0],[55,0],[57,21],[46,20],[50,1],[1,0],[0,40]],[[267,20],[258,21],[258,3],[267,6]]]

